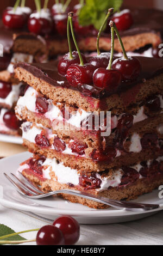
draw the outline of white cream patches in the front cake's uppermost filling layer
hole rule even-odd
[[[20,97],[20,99],[17,102],[16,106],[16,112],[21,117],[22,108],[27,108],[29,111],[39,114],[36,110],[36,98],[39,96],[39,94],[36,92],[36,90],[32,87],[29,87],[24,94],[23,97]],[[161,101],[161,107],[163,106],[163,100],[162,96],[159,95],[160,101]],[[48,111],[43,114],[43,117],[48,118],[53,122],[54,120],[64,121],[61,109],[60,109],[60,103],[57,103],[57,105],[53,104],[53,101],[48,99]],[[141,106],[139,111],[136,115],[133,115],[134,121],[133,123],[138,123],[140,121],[143,121],[147,119],[147,115],[144,113],[145,107]],[[92,112],[86,112],[83,109],[79,108],[77,111],[73,111],[71,113],[70,119],[66,120],[67,124],[70,124],[77,129],[80,129],[81,123],[88,119],[91,116]],[[115,129],[117,127],[118,120],[121,119],[122,115],[125,113],[122,113],[120,115],[114,115],[111,117],[111,129]]]

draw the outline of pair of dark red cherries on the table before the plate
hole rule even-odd
[[[36,235],[37,245],[74,245],[80,237],[80,225],[70,216],[57,218],[45,225]]]

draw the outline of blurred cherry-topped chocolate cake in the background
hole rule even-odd
[[[65,4],[56,3],[51,10],[47,8],[48,1],[45,1],[42,9],[40,1],[36,1],[37,10],[33,13],[29,7],[24,6],[24,1],[21,6],[20,2],[16,1],[14,8],[5,9],[0,21],[0,46],[3,50],[3,57],[0,58],[0,81],[10,83],[12,88],[16,88],[16,84],[19,86],[19,82],[14,77],[13,65],[15,63],[44,63],[68,51],[66,25],[70,1],[65,1]],[[89,25],[85,25],[82,18],[88,4],[89,2],[84,6],[81,4],[74,6],[73,20],[80,49],[92,56],[94,53],[90,53],[90,51],[96,50],[97,26],[93,26],[91,22]],[[161,18],[162,11],[148,9],[123,9],[120,12],[119,9],[116,9],[111,16],[120,29],[124,46],[129,55],[146,57],[159,57],[160,48],[158,46],[162,42],[163,32]],[[98,20],[96,23],[98,24]],[[109,23],[107,23],[101,35],[100,48],[103,51],[109,51],[110,41]],[[122,49],[117,38],[115,38],[115,51],[117,52],[116,56],[122,56]],[[91,57],[89,62],[93,63]],[[7,88],[8,85],[3,87]],[[17,93],[17,97],[18,95]],[[7,96],[6,99],[0,95],[2,113],[10,108],[6,106],[8,103],[12,105],[12,100],[9,102],[10,95]],[[15,99],[14,101],[16,102]],[[2,105],[1,102],[4,104]],[[11,132],[11,134],[15,129],[14,126],[10,129],[3,120],[2,114],[0,132],[3,132],[4,128],[5,132]],[[17,131],[14,130],[14,133],[17,134]]]

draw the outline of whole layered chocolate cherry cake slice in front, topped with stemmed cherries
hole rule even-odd
[[[163,60],[128,57],[111,21],[111,53],[95,57],[97,68],[79,51],[72,13],[68,22],[78,52],[68,41],[70,53],[59,63],[15,65],[15,77],[28,84],[15,111],[26,120],[23,144],[34,154],[18,171],[45,192],[71,188],[118,200],[151,192],[163,182]],[[122,58],[113,57],[114,31]]]

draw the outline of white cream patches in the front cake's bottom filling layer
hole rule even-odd
[[[150,167],[153,160],[147,161],[147,167]],[[156,161],[163,161],[163,156],[158,157]],[[42,172],[43,178],[51,179],[54,181],[58,181],[60,184],[72,184],[74,186],[80,186],[80,173],[76,169],[71,169],[70,167],[64,166],[63,163],[58,162],[55,159],[46,159],[42,164]],[[141,163],[136,164],[135,166],[131,166],[130,168],[134,168],[138,173],[140,169],[143,168]],[[24,169],[30,169],[27,163],[23,164],[18,168],[19,172],[22,172]],[[123,176],[123,170],[118,169],[111,176],[103,177],[99,173],[96,173],[96,176],[92,178],[97,178],[101,180],[100,188],[95,188],[96,191],[107,190],[109,187],[118,187],[121,184],[121,179]],[[90,177],[91,178],[91,177]],[[139,179],[142,179],[142,175],[139,175]],[[124,185],[127,186],[128,184]]]

